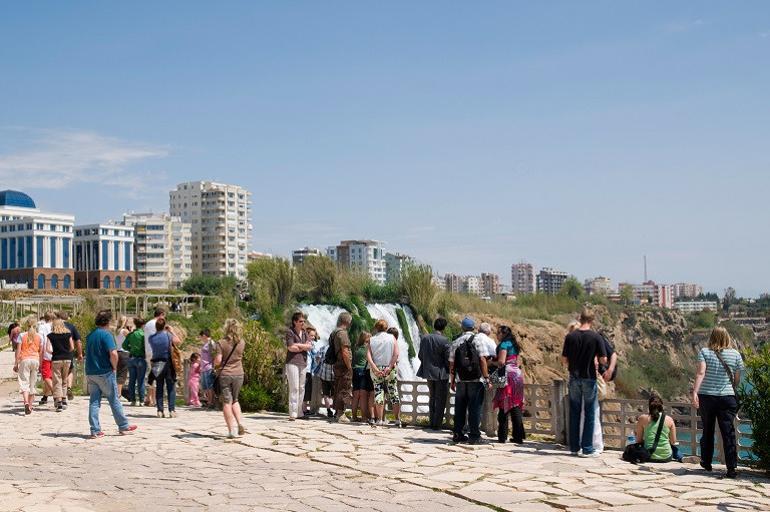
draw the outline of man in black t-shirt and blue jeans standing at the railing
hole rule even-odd
[[[594,451],[594,410],[596,408],[596,362],[607,364],[601,335],[591,329],[594,313],[588,308],[580,313],[580,327],[564,338],[562,361],[569,368],[569,449],[572,455],[596,457]],[[580,432],[580,410],[585,422]]]

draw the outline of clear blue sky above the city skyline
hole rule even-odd
[[[253,247],[770,291],[767,2],[15,2],[0,187],[253,192]]]

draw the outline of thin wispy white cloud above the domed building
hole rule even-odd
[[[77,183],[133,187],[157,173],[127,172],[129,165],[168,156],[167,148],[87,131],[23,130],[31,149],[0,154],[0,182],[61,189]]]

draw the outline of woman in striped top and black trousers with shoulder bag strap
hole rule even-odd
[[[724,327],[711,331],[708,347],[698,353],[698,367],[692,390],[693,406],[698,408],[703,422],[700,440],[700,465],[711,471],[714,458],[714,423],[719,423],[727,472],[723,478],[735,478],[738,466],[738,447],[735,436],[735,417],[738,415],[737,386],[743,371],[740,352],[731,348],[730,334]]]

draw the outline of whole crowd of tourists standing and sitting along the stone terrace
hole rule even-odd
[[[341,313],[328,342],[321,343],[318,331],[307,323],[302,312],[292,315],[285,335],[284,366],[289,421],[313,416],[313,387],[320,384],[320,403],[329,420],[366,422],[372,427],[402,426],[399,330],[385,320],[377,320],[373,332],[360,333],[352,343],[352,320],[350,313]],[[121,397],[130,406],[155,407],[159,418],[176,417],[176,388],[183,375],[180,346],[187,334],[184,329],[169,325],[162,308],[157,308],[148,321],[120,317],[113,322],[111,312],[104,310],[96,315],[95,324],[85,344],[65,312],[45,313],[40,319],[28,317],[21,325],[12,323],[8,327],[24,413],[30,415],[35,407],[45,406],[49,397],[57,412],[65,410],[73,399],[74,370],[85,362],[93,438],[104,436],[99,422],[102,398],[107,400],[121,434],[137,428],[129,423]],[[593,312],[584,309],[579,320],[568,326],[562,349],[569,374],[568,444],[571,454],[580,457],[596,457],[604,449],[601,401],[607,396],[607,384],[618,372],[618,355],[612,343],[593,324]],[[452,341],[444,334],[446,319],[437,318],[433,332],[420,340],[417,376],[429,390],[428,428],[441,430],[447,423],[451,390],[455,396],[454,443],[481,442],[485,399],[497,410],[498,441],[523,443],[526,399],[521,337],[507,325],[500,325],[493,334],[490,324],[477,327],[470,317],[460,325],[462,334]],[[189,357],[184,384],[188,406],[221,405],[227,435],[235,438],[246,433],[239,403],[246,342],[242,326],[235,319],[228,319],[222,331],[218,341],[211,338],[208,329],[199,333],[200,351]],[[741,355],[731,348],[730,335],[724,328],[716,327],[708,347],[698,354],[692,402],[703,424],[701,466],[712,470],[718,424],[727,466],[724,476],[728,478],[736,475],[736,386],[742,370]],[[38,375],[43,381],[43,392],[36,402]],[[386,406],[394,418],[392,423],[386,421]],[[346,415],[348,409],[352,420]],[[639,417],[624,459],[681,461],[676,423],[665,414],[660,396],[650,396],[649,414]]]

